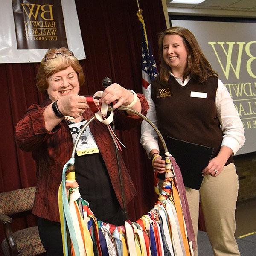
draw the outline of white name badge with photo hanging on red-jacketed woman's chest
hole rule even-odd
[[[70,128],[73,142],[75,142],[77,135],[79,134],[81,128],[85,125],[86,122],[87,121],[83,121],[68,125]],[[87,128],[80,137],[80,140],[76,147],[76,153],[78,156],[99,153],[99,148],[94,140],[93,134],[91,133],[89,126],[87,126]]]

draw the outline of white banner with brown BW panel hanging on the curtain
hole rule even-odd
[[[74,0],[1,0],[0,63],[41,62],[52,47],[85,58]]]

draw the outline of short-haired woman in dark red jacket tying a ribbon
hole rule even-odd
[[[62,168],[70,159],[77,131],[93,116],[86,97],[79,95],[83,83],[84,73],[73,52],[67,48],[49,49],[37,74],[38,90],[47,97],[41,105],[31,105],[15,128],[19,148],[32,151],[37,164],[37,190],[32,212],[38,216],[40,238],[48,255],[63,254],[58,186]],[[101,102],[114,102],[114,108],[130,105],[143,114],[148,109],[143,95],[136,95],[119,84],[107,87]],[[99,101],[94,99],[94,103],[98,105]],[[114,119],[117,129],[133,128],[141,122],[138,116],[125,111],[116,111]],[[79,145],[80,152],[85,153],[76,156],[75,160],[81,197],[90,203],[90,208],[102,221],[123,224],[115,145],[108,128],[95,121],[86,129],[85,135],[88,143]],[[120,165],[125,202],[128,204],[136,191],[122,158]]]

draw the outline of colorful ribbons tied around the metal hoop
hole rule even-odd
[[[92,102],[92,97],[87,99],[91,106],[94,105]],[[91,109],[100,122],[109,125],[109,117],[105,117],[108,107]],[[193,256],[169,156],[166,156],[163,189],[154,207],[136,222],[125,221],[124,226],[119,227],[96,218],[88,202],[80,197],[79,188],[66,189],[66,178],[67,183],[75,180],[73,169],[74,159],[71,158],[63,167],[58,194],[65,256]],[[66,177],[67,171],[69,173]]]

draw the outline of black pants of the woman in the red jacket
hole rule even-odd
[[[116,212],[116,215],[104,221],[116,226],[124,225],[125,219],[122,209],[120,208],[119,211]],[[38,229],[41,242],[47,255],[63,255],[61,224],[59,222],[49,221],[47,219],[38,217]]]

